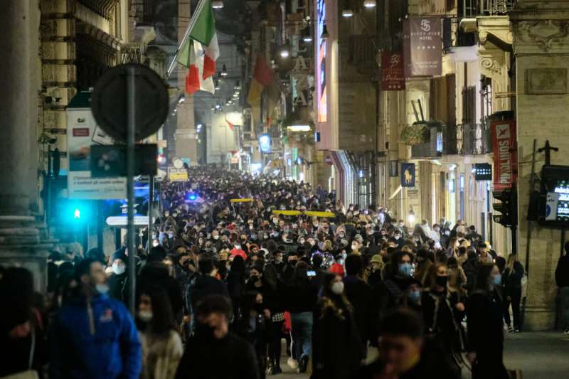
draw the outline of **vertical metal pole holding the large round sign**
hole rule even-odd
[[[134,297],[137,288],[137,267],[134,257],[137,255],[134,245],[134,134],[136,130],[136,70],[134,66],[127,68],[127,202],[128,202],[128,281],[129,311],[134,314]]]

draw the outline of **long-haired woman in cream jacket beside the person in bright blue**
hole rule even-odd
[[[152,287],[138,298],[137,324],[142,344],[141,379],[174,379],[184,353],[164,289]]]

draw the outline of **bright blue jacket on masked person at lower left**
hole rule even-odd
[[[142,349],[126,307],[106,295],[63,306],[50,333],[50,379],[138,379]]]

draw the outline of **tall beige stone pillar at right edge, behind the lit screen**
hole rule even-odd
[[[528,222],[526,212],[533,140],[538,147],[547,139],[559,148],[552,164],[568,164],[569,154],[569,2],[518,0],[511,12],[516,55],[518,199],[521,262],[529,264],[526,326],[552,329],[555,323],[555,266],[560,256],[559,230],[531,225],[529,260],[526,262]],[[537,154],[536,171],[543,166]]]

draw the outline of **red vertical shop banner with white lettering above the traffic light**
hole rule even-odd
[[[494,145],[494,189],[502,190],[516,183],[518,177],[516,121],[492,122],[490,128]]]

